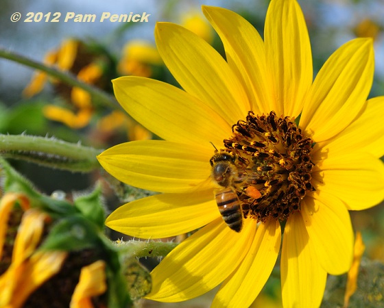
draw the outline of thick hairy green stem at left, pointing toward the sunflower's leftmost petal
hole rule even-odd
[[[73,172],[89,172],[100,168],[96,155],[101,151],[56,138],[0,134],[1,156]]]

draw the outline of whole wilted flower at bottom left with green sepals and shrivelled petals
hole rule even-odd
[[[0,307],[132,307],[122,261],[132,249],[104,235],[101,188],[70,203],[38,193],[3,159],[0,170]]]

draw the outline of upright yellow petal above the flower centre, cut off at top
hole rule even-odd
[[[269,4],[264,29],[267,67],[272,74],[278,116],[298,116],[313,79],[307,25],[295,0]]]

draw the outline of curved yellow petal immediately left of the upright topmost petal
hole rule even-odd
[[[203,12],[224,44],[230,68],[243,82],[251,109],[259,114],[269,113],[274,105],[261,36],[235,12],[204,5]]]

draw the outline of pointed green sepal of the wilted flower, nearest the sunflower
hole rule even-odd
[[[91,194],[79,196],[73,201],[75,207],[96,224],[99,230],[104,230],[105,211],[102,203],[101,185],[97,183]]]

